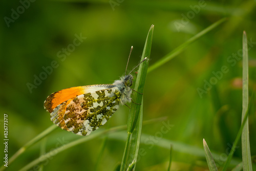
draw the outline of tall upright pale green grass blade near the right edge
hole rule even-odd
[[[243,33],[243,109],[242,120],[245,117],[246,111],[248,111],[248,48],[246,32]],[[246,119],[244,129],[242,132],[242,159],[243,170],[252,170],[251,154],[250,154],[250,142],[249,142],[249,126],[248,117]]]

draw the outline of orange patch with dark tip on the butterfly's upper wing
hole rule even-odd
[[[86,94],[87,87],[88,86],[72,87],[69,89],[63,89],[58,92],[52,93],[50,96],[47,97],[44,103],[45,109],[48,112],[52,113],[52,111],[57,107],[57,105],[81,94]]]

